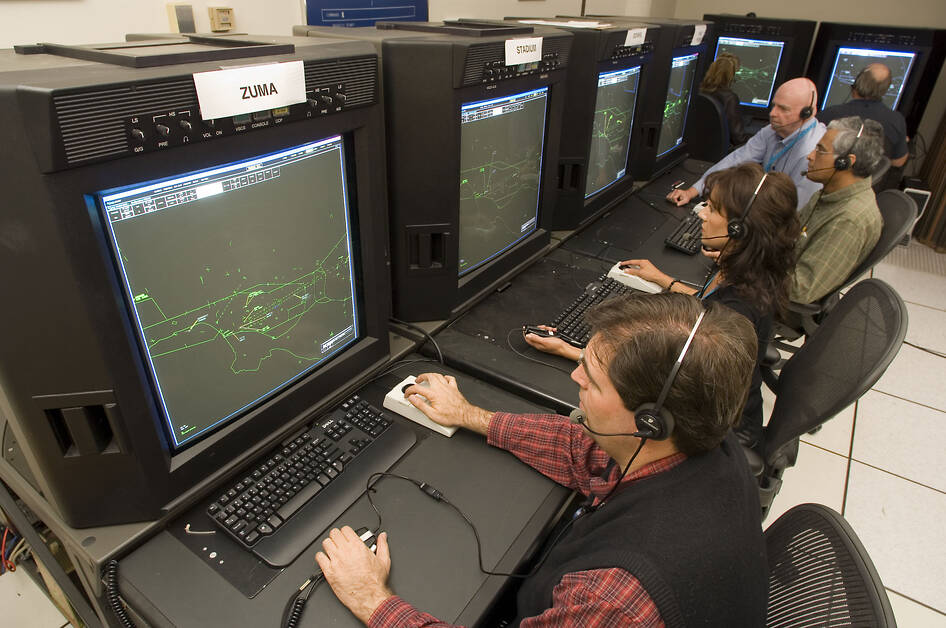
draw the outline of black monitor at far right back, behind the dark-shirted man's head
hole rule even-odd
[[[868,64],[886,64],[893,75],[883,98],[903,114],[907,135],[916,135],[946,59],[946,30],[822,22],[807,75],[818,86],[822,108],[844,102]]]

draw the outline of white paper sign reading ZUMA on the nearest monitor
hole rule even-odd
[[[305,70],[288,61],[198,72],[194,87],[201,118],[227,118],[305,102]]]

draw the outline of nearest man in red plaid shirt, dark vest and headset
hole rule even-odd
[[[421,375],[428,386],[406,390],[431,419],[483,434],[589,498],[523,582],[518,625],[764,624],[758,492],[729,431],[746,399],[755,332],[728,308],[704,305],[660,294],[589,313],[595,333],[572,372],[580,425],[478,408],[449,375]],[[655,431],[641,410],[661,397]],[[376,555],[347,527],[332,530],[323,550],[326,580],[369,627],[446,626],[387,587],[386,534]]]

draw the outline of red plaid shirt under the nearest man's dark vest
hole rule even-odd
[[[556,415],[512,415],[497,412],[487,442],[512,452],[543,475],[583,495],[602,499],[620,475],[610,456],[581,426]],[[622,480],[627,484],[672,469],[686,458],[674,454],[652,462]],[[448,626],[394,595],[371,616],[370,628]],[[589,628],[663,626],[654,601],[637,580],[620,568],[591,569],[565,574],[552,592],[552,607],[525,619],[522,628]]]

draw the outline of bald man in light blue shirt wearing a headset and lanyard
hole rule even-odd
[[[825,126],[818,122],[818,90],[807,78],[794,78],[782,83],[772,97],[769,124],[749,138],[712,168],[693,187],[673,190],[667,200],[686,205],[703,193],[707,175],[746,162],[761,164],[766,172],[784,172],[792,178],[798,191],[798,207],[804,207],[821,185],[805,178],[805,158],[821,136]]]

